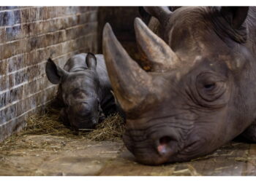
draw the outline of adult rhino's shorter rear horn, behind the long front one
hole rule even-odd
[[[162,72],[174,67],[178,61],[175,52],[138,17],[135,18],[135,34],[139,48],[151,66],[151,71]]]

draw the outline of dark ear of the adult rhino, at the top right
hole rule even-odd
[[[249,7],[222,7],[220,12],[233,28],[239,28],[244,23],[248,10]]]

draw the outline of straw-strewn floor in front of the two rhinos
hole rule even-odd
[[[191,162],[146,166],[118,138],[28,131],[0,143],[0,175],[256,175],[256,144],[232,141]]]

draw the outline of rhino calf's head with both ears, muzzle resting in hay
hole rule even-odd
[[[86,57],[87,69],[65,71],[48,59],[46,75],[53,84],[59,84],[65,107],[61,119],[76,129],[90,129],[99,122],[100,108],[99,77],[97,58],[89,53]]]

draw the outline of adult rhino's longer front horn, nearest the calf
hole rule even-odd
[[[152,86],[152,77],[129,57],[106,23],[103,30],[103,54],[116,98],[127,113],[141,106]]]

